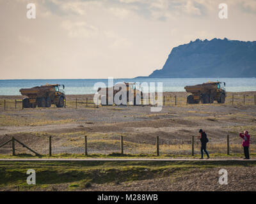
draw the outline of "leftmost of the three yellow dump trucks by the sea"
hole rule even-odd
[[[31,89],[20,89],[20,94],[26,96],[22,99],[23,108],[56,107],[62,108],[65,105],[65,85],[63,84],[46,84]]]

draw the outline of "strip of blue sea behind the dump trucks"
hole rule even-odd
[[[120,78],[116,82],[163,82],[163,91],[185,91],[186,85],[202,84],[208,81],[226,82],[230,92],[256,91],[256,78]],[[66,94],[93,94],[93,86],[103,82],[108,86],[108,79],[56,79],[56,80],[0,80],[0,95],[20,95],[19,89],[38,85],[64,84]],[[101,86],[103,87],[103,86]]]

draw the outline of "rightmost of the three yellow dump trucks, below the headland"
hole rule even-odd
[[[189,104],[200,103],[200,101],[201,103],[213,103],[214,101],[225,103],[225,86],[225,82],[206,82],[204,84],[188,85],[184,87],[186,92],[191,93],[187,98],[187,102]]]

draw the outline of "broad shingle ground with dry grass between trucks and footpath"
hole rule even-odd
[[[168,94],[172,96],[177,94],[178,97],[183,98],[186,96],[186,92],[164,93],[166,96]],[[237,94],[243,96],[243,93]],[[251,96],[255,92],[246,92],[246,94]],[[67,99],[86,97],[92,98],[91,95],[84,95],[67,96]],[[14,99],[15,96],[0,96],[0,99],[4,98]],[[188,146],[191,144],[191,136],[198,136],[200,128],[206,131],[210,145],[225,146],[227,135],[230,135],[230,145],[237,145],[236,148],[231,149],[231,153],[243,153],[239,131],[243,131],[244,128],[250,131],[252,150],[256,136],[256,106],[231,105],[228,101],[224,105],[217,103],[166,105],[157,113],[151,112],[150,106],[104,106],[77,109],[35,108],[6,111],[1,109],[0,116],[4,119],[0,121],[0,143],[15,136],[41,154],[48,151],[50,135],[54,153],[83,152],[83,136],[87,135],[88,151],[100,154],[119,151],[120,135],[124,135],[125,153],[154,152],[156,136],[159,136],[160,145]],[[9,126],[3,125],[6,120],[11,121]],[[16,123],[12,124],[12,121]],[[196,149],[198,145],[199,142],[196,140]],[[187,149],[177,147],[175,150],[168,149],[167,146],[162,147],[161,153],[186,152],[187,154],[190,151],[189,146],[186,147]],[[213,148],[212,152],[226,152],[225,149],[220,148],[222,147]],[[17,145],[17,152],[26,152],[26,150]],[[2,147],[0,154],[10,154],[10,145]]]

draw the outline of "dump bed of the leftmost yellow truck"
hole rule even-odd
[[[31,89],[20,89],[22,96],[34,97],[48,97],[54,94],[55,88],[51,85],[41,85],[40,87],[33,87]]]

